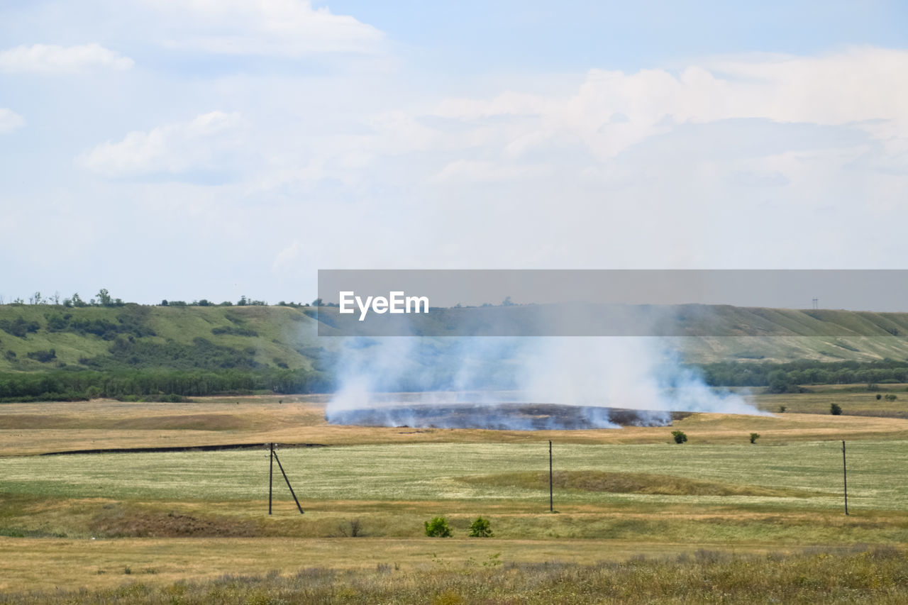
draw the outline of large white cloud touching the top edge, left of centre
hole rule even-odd
[[[154,0],[172,15],[166,45],[226,55],[373,53],[384,35],[304,0]]]

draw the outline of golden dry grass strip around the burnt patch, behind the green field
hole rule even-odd
[[[873,393],[830,392],[757,395],[750,399],[774,416],[694,414],[675,422],[694,441],[784,444],[822,440],[908,440],[908,419],[893,418],[905,400],[877,402]],[[664,427],[595,431],[479,431],[330,425],[324,395],[198,398],[186,403],[41,402],[0,404],[0,457],[53,451],[192,447],[228,443],[355,445],[381,443],[513,442],[553,439],[587,444],[668,443]],[[843,416],[828,412],[840,402]],[[865,404],[859,408],[855,402]],[[796,413],[798,411],[807,413]],[[865,415],[856,417],[850,412]],[[882,415],[871,415],[882,414]],[[888,416],[888,417],[887,417]]]

